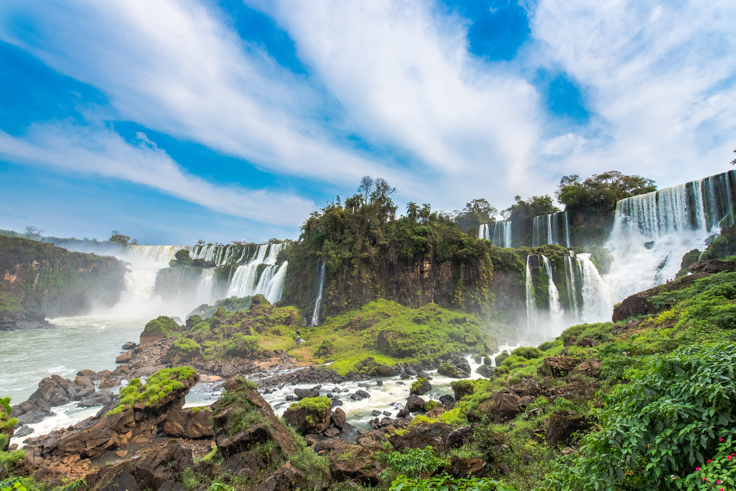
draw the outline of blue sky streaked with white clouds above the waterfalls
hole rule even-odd
[[[109,0],[0,10],[0,229],[296,239],[383,177],[461,209],[736,148],[733,1]]]

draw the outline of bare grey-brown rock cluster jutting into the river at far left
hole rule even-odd
[[[88,377],[77,376],[73,381],[52,375],[38,382],[38,390],[27,401],[11,408],[10,414],[18,418],[18,424],[38,423],[51,414],[51,408],[71,401],[81,401],[95,392]]]

